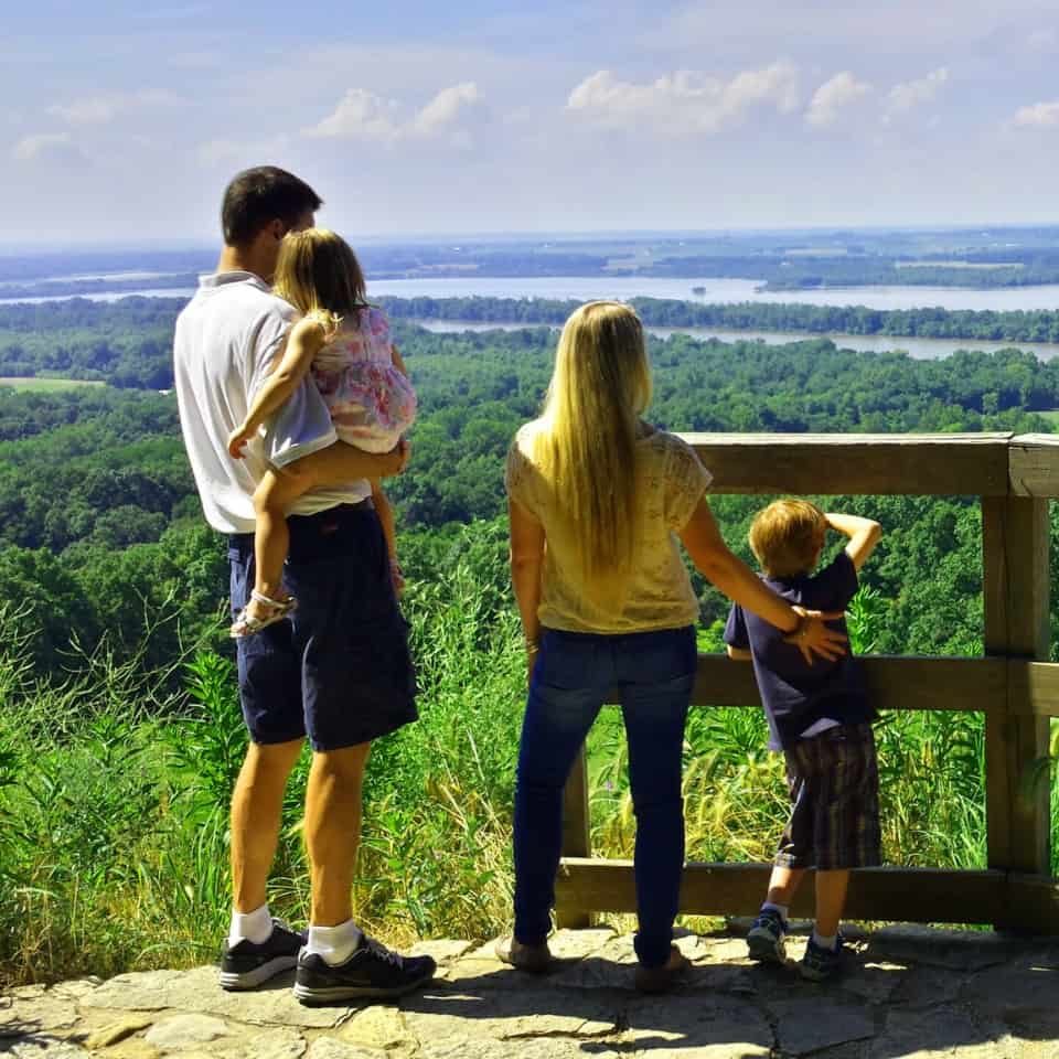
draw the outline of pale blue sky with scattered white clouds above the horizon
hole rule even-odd
[[[38,0],[0,244],[211,242],[271,162],[360,237],[1059,220],[1059,0]]]

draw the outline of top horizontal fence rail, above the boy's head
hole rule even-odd
[[[1010,434],[682,437],[714,475],[717,493],[1006,496],[1010,489]]]

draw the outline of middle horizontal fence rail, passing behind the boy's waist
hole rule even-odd
[[[1004,708],[1007,664],[1003,659],[867,655],[860,663],[871,702],[879,709]],[[719,654],[699,655],[692,702],[697,706],[759,706],[750,663]]]

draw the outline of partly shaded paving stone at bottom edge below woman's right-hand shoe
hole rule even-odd
[[[622,1051],[644,1059],[751,1059],[767,1057],[772,1045],[768,1021],[751,1004],[667,996],[630,1007]]]

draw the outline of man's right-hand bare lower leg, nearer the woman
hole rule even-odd
[[[361,844],[361,788],[371,744],[314,753],[306,792],[306,848],[313,927],[353,918],[352,888]]]

